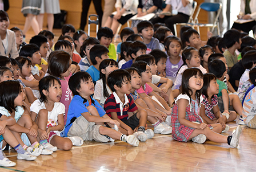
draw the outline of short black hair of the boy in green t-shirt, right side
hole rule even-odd
[[[226,71],[226,66],[221,60],[215,59],[209,63],[208,69],[209,73],[213,73],[217,78],[221,78]]]

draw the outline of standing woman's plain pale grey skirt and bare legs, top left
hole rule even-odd
[[[59,0],[42,0],[41,3],[41,11],[37,16],[37,21],[39,24],[40,30],[43,30],[43,15],[47,13],[47,25],[48,30],[53,32],[53,24],[54,24],[54,15],[61,13],[61,9],[59,7]]]

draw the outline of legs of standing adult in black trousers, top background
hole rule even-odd
[[[85,26],[86,26],[86,22],[87,22],[87,14],[89,11],[90,4],[91,4],[91,0],[83,0],[82,1],[82,14],[81,14],[81,22],[80,22],[81,30],[85,30]],[[103,15],[102,7],[101,7],[101,0],[93,0],[93,4],[94,4],[96,13],[99,16],[99,27],[101,27],[101,19],[102,19],[102,15]]]

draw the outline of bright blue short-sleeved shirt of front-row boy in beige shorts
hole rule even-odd
[[[86,108],[87,106],[89,105],[94,106],[97,109],[100,117],[106,114],[105,110],[101,107],[101,105],[98,103],[97,100],[93,99],[93,97],[91,96],[90,96],[90,99],[91,99],[91,104],[89,104],[89,102],[86,99],[83,99],[83,97],[79,95],[75,95],[71,100],[71,103],[69,105],[69,112],[67,112],[67,122],[65,126],[66,137],[75,119],[80,117],[82,115],[81,113],[88,112]]]

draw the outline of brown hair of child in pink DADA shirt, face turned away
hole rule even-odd
[[[66,51],[56,50],[49,55],[48,73],[60,77],[69,69],[70,55]]]

